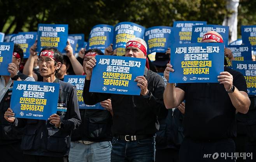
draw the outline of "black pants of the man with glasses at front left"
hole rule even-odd
[[[24,154],[25,162],[68,162],[68,156],[64,157],[48,157],[39,155],[26,155]]]

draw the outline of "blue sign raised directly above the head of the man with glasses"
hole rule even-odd
[[[61,53],[67,46],[68,25],[67,24],[38,24],[37,50],[45,47],[55,47]]]

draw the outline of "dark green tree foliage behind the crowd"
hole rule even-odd
[[[251,16],[248,21],[239,19],[239,25],[254,19],[255,4],[242,3],[243,14]],[[183,20],[222,24],[228,14],[225,5],[224,0],[0,0],[0,31],[37,31],[39,23],[68,24],[68,33],[84,33],[87,39],[96,24],[130,21],[146,28]]]

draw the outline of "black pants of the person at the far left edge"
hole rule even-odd
[[[21,141],[0,145],[0,162],[24,162]]]

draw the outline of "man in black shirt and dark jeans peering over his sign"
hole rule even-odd
[[[146,59],[146,54],[147,45],[141,38],[132,38],[126,43],[126,57]],[[95,58],[90,59],[86,64],[83,97],[87,105],[94,105],[111,98],[113,109],[111,162],[153,162],[154,134],[159,129],[157,116],[167,112],[163,104],[165,89],[163,78],[148,70],[146,64],[144,75],[134,80],[140,87],[140,96],[91,93],[89,87],[95,65]]]

